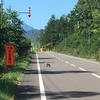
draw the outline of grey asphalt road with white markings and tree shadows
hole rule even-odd
[[[99,62],[37,52],[23,75],[16,100],[100,100],[99,86]]]

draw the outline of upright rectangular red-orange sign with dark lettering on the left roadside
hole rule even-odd
[[[6,45],[6,66],[14,65],[14,45],[7,44]]]

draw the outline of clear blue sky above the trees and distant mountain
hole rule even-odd
[[[19,18],[26,24],[35,29],[44,29],[47,22],[54,14],[60,18],[63,14],[67,15],[75,7],[78,0],[3,0],[3,8],[12,7],[18,12],[28,12],[31,7],[31,17],[28,14],[20,14]]]

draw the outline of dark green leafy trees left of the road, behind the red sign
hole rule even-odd
[[[28,53],[31,41],[25,36],[25,30],[22,28],[24,22],[19,18],[17,11],[9,7],[6,10],[0,9],[0,12],[0,68],[2,68],[5,65],[5,48],[7,44],[14,45],[16,60]]]

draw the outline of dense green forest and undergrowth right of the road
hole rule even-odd
[[[40,47],[79,57],[100,59],[100,0],[78,0],[68,15],[51,15],[44,32],[39,31]]]

